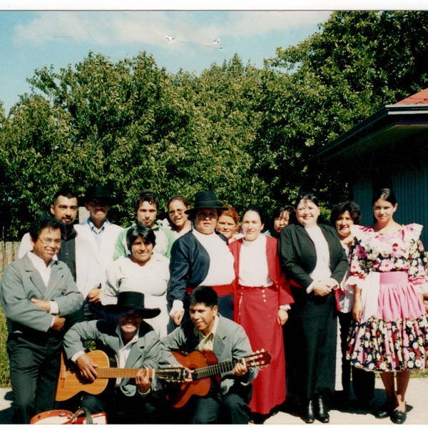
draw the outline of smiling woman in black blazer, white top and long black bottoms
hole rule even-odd
[[[293,335],[287,339],[287,350],[295,353],[290,389],[302,399],[306,423],[330,422],[325,396],[335,391],[335,290],[348,260],[336,230],[317,224],[320,208],[313,193],[300,193],[295,208],[297,221],[282,228],[279,240],[280,263],[295,299],[288,329]]]

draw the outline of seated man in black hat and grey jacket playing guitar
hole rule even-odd
[[[161,310],[144,307],[140,292],[121,292],[117,305],[106,306],[106,319],[73,325],[64,337],[64,350],[69,360],[76,362],[81,376],[96,379],[97,365],[85,353],[83,342],[93,340],[98,350],[120,368],[158,368],[159,337],[143,318],[153,318]],[[116,364],[115,364],[116,365]],[[106,412],[111,424],[156,423],[159,406],[152,380],[143,370],[135,379],[116,379],[115,384],[98,395],[85,394],[81,407],[89,412]]]

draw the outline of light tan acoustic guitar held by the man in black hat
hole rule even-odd
[[[77,366],[68,367],[61,355],[61,369],[59,371],[58,387],[56,387],[56,401],[64,401],[76,395],[78,392],[88,392],[88,394],[100,394],[106,389],[108,379],[134,378],[136,377],[137,368],[117,368],[110,367],[108,355],[101,351],[95,350],[88,352],[86,355],[91,357],[98,367],[96,367],[97,377],[91,381],[82,377],[79,373]],[[148,372],[151,379],[155,377],[163,379],[168,382],[183,382],[187,377],[187,372],[183,367],[165,367],[162,369],[143,369]]]

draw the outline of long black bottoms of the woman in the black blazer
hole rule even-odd
[[[337,344],[337,311],[335,296],[309,294],[303,288],[291,287],[295,299],[289,311],[287,355],[292,378],[290,391],[300,399],[335,391]],[[292,356],[290,357],[290,352]]]

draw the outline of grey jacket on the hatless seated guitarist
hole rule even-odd
[[[214,337],[213,352],[218,362],[226,362],[236,358],[248,357],[253,353],[251,350],[250,340],[243,327],[228,318],[219,316],[217,332]],[[177,365],[178,362],[171,354],[172,350],[183,352],[192,352],[198,349],[199,338],[195,335],[195,325],[190,320],[183,322],[168,336],[161,340],[161,365]],[[248,370],[248,380],[253,382],[258,374],[256,367],[250,367]],[[240,377],[233,374],[223,373],[221,375],[220,389],[226,394],[234,382],[240,382]]]

